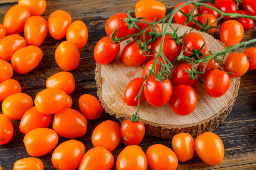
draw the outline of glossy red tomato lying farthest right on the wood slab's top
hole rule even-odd
[[[205,78],[204,88],[211,97],[224,95],[230,86],[230,77],[225,71],[214,69]]]

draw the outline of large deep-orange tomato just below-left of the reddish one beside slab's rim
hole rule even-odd
[[[63,108],[54,114],[52,128],[61,137],[82,137],[87,131],[87,119],[75,109]]]

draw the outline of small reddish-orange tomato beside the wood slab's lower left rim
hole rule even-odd
[[[78,104],[81,113],[89,120],[99,118],[103,112],[103,107],[99,99],[90,94],[81,95]]]

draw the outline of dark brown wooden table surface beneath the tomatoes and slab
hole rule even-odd
[[[175,4],[182,0],[160,0],[170,12]],[[197,0],[200,2],[214,2],[213,0]],[[43,17],[48,18],[49,14],[56,9],[63,9],[72,15],[72,20],[83,20],[88,26],[89,39],[86,46],[80,49],[81,62],[79,67],[71,71],[76,80],[76,90],[71,94],[73,99],[73,108],[79,110],[78,99],[82,94],[89,93],[96,96],[97,88],[94,81],[95,61],[93,58],[93,49],[97,41],[106,35],[104,26],[106,20],[118,12],[127,12],[134,10],[137,0],[47,0],[47,9]],[[7,10],[17,0],[0,1],[0,22]],[[218,32],[218,31],[217,31]],[[255,38],[256,30],[245,31],[245,40]],[[214,35],[218,38],[218,33]],[[63,39],[64,40],[64,39]],[[45,42],[40,46],[43,49],[43,60],[40,65],[30,73],[19,75],[14,72],[13,78],[20,82],[22,92],[31,95],[34,99],[36,94],[45,88],[46,79],[61,69],[54,61],[54,51],[62,40],[54,40],[49,35]],[[0,113],[2,110],[0,110]],[[86,150],[92,148],[91,134],[95,126],[100,122],[111,119],[120,123],[115,117],[103,113],[97,120],[88,121],[88,131],[85,136],[78,140],[85,144]],[[13,163],[18,159],[29,157],[24,144],[24,135],[19,131],[19,121],[12,121],[14,126],[14,135],[11,141],[0,146],[0,164],[3,170],[11,170]],[[179,163],[178,170],[182,169],[255,169],[256,168],[256,72],[248,71],[241,77],[241,85],[236,99],[236,103],[225,119],[225,122],[214,130],[221,137],[225,145],[225,157],[222,163],[209,166],[202,162],[195,154],[193,159],[185,163]],[[67,139],[59,138],[59,144]],[[139,146],[146,152],[146,149],[152,144],[164,144],[171,148],[171,140],[160,139],[157,137],[145,136]],[[112,152],[115,159],[119,152],[125,147],[121,141],[119,146]],[[51,154],[40,157],[45,165],[45,170],[55,169],[51,163]],[[115,170],[115,164],[112,168]]]

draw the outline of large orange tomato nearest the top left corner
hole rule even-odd
[[[30,13],[26,7],[19,4],[13,5],[4,15],[3,26],[7,35],[21,33],[29,17]]]

